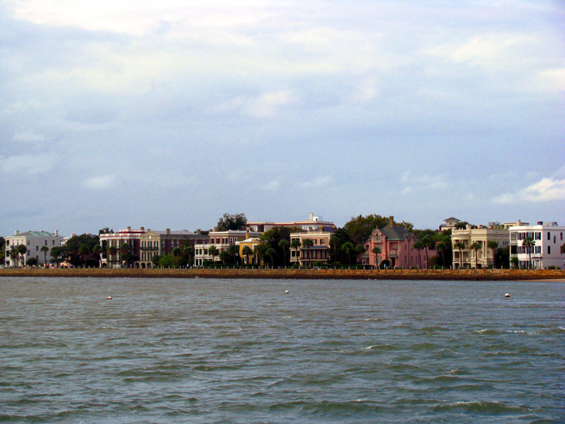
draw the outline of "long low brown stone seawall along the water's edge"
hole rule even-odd
[[[559,281],[564,269],[0,269],[1,277],[90,278],[267,278],[328,280]]]

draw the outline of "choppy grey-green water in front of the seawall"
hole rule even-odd
[[[0,422],[565,423],[563,283],[2,278],[0,296]]]

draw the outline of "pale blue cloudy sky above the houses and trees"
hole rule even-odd
[[[564,24],[546,0],[0,0],[0,235],[565,225]]]

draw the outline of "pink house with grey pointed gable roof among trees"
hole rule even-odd
[[[404,269],[417,266],[426,267],[426,254],[424,250],[420,254],[414,249],[414,243],[418,239],[416,236],[394,224],[394,218],[388,218],[388,225],[383,228],[377,228],[371,233],[369,240],[365,242],[364,261],[367,265],[379,266],[385,259],[388,260],[388,266],[401,266]],[[374,252],[375,247],[379,247],[378,252]]]

